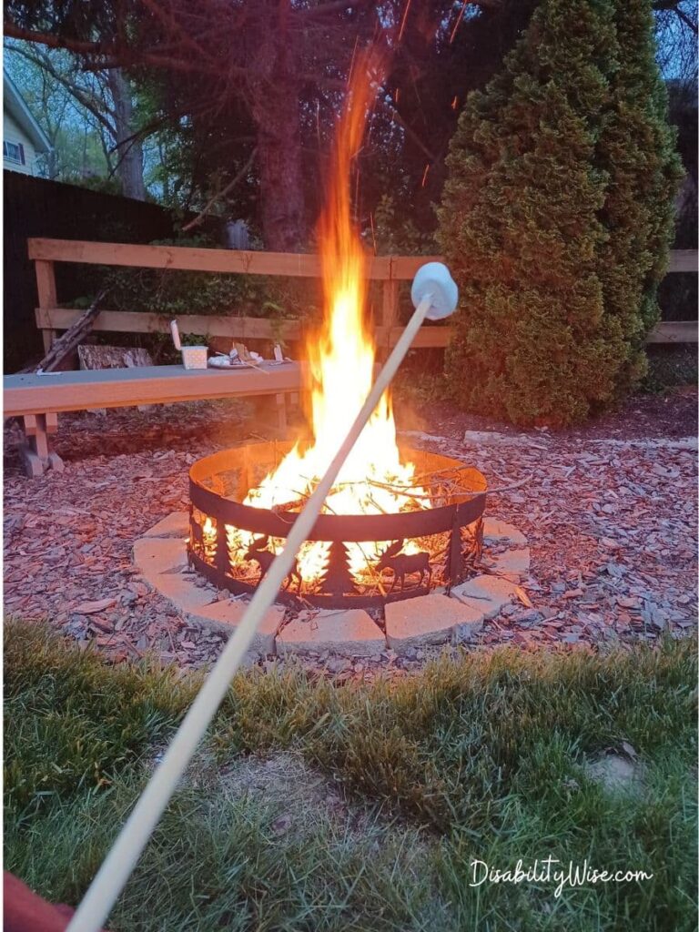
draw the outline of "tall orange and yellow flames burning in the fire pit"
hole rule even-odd
[[[308,341],[313,441],[296,444],[279,467],[251,489],[245,503],[273,508],[303,500],[330,465],[349,426],[359,413],[373,381],[376,347],[365,320],[366,254],[351,217],[351,169],[362,144],[367,111],[377,88],[380,63],[373,53],[358,55],[332,155],[328,196],[318,226],[324,321]],[[385,514],[429,507],[424,490],[414,486],[415,467],[402,463],[396,445],[389,393],[381,398],[328,496],[326,514]],[[404,489],[404,491],[403,491]],[[409,494],[408,494],[409,493]],[[422,496],[422,498],[420,498]],[[245,560],[254,535],[226,528],[231,562]],[[282,541],[267,541],[271,553]],[[378,544],[348,543],[349,569],[355,577],[373,576],[371,566],[385,549]],[[305,582],[322,576],[329,545],[308,542],[298,556]],[[418,551],[406,541],[405,553]]]

